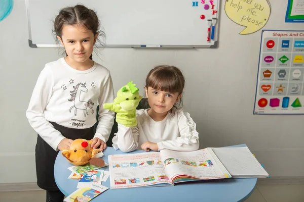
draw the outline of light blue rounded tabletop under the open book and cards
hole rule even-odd
[[[241,145],[236,145],[241,146]],[[141,153],[143,150],[135,150],[132,153]],[[132,154],[128,153],[128,154]],[[121,150],[107,147],[103,151],[103,160],[108,163],[108,155],[125,154]],[[67,179],[71,171],[67,168],[72,166],[60,153],[55,161],[55,181],[61,192],[68,196],[77,189],[79,180]],[[104,167],[100,170],[108,171]],[[177,183],[175,186],[166,187],[139,187],[124,189],[108,189],[93,199],[93,201],[244,201],[253,192],[256,185],[256,178],[244,179],[218,179],[206,181],[193,181]],[[102,182],[103,186],[110,187],[110,179]]]

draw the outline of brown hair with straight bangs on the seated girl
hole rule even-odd
[[[178,92],[178,95],[180,95],[184,89],[185,78],[177,67],[160,65],[150,70],[145,83],[146,88],[151,87],[161,91]],[[182,99],[180,98],[175,107],[181,104]]]

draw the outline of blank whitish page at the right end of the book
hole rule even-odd
[[[268,176],[247,146],[212,148],[218,159],[234,176]]]

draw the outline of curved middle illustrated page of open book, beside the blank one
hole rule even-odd
[[[220,179],[230,177],[220,170],[208,149],[190,152],[163,149],[160,153],[162,161],[165,164],[166,173],[168,173],[173,183],[174,180],[187,181],[187,179]],[[178,177],[184,180],[179,180],[177,179]]]

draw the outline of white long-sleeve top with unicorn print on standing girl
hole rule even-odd
[[[41,71],[26,111],[31,127],[55,150],[64,136],[49,122],[68,128],[98,126],[94,137],[107,141],[113,126],[114,112],[103,109],[114,99],[110,72],[94,62],[92,68],[79,71],[60,58]],[[96,112],[99,105],[99,112]]]

